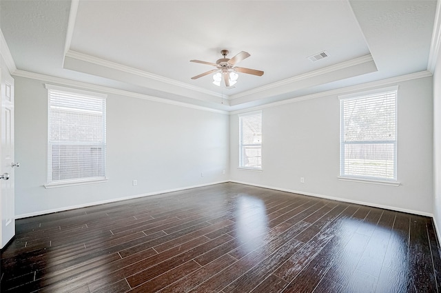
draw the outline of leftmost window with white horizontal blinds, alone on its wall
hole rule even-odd
[[[105,95],[46,85],[48,183],[105,179]]]

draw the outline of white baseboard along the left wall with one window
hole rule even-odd
[[[192,186],[186,186],[183,188],[173,188],[170,190],[161,190],[161,191],[156,191],[156,192],[149,192],[149,193],[143,193],[143,194],[136,194],[136,195],[132,195],[132,196],[125,196],[125,197],[119,197],[116,199],[108,199],[105,201],[94,201],[92,203],[84,203],[81,205],[70,205],[68,207],[63,207],[63,208],[57,208],[57,209],[52,209],[52,210],[43,210],[43,211],[39,211],[39,212],[30,212],[28,214],[19,214],[15,216],[15,219],[23,219],[23,218],[29,218],[30,216],[41,216],[42,214],[52,214],[54,212],[63,212],[66,210],[75,210],[78,208],[87,208],[93,205],[102,205],[104,203],[114,203],[117,201],[126,201],[127,199],[138,199],[140,197],[144,197],[144,196],[152,196],[152,195],[157,195],[157,194],[163,194],[163,193],[167,193],[167,192],[175,192],[175,191],[181,191],[181,190],[187,190],[187,189],[192,189],[192,188],[201,188],[204,186],[209,186],[209,185],[215,185],[215,184],[219,184],[219,183],[226,183],[229,182],[229,180],[227,181],[218,181],[218,182],[212,182],[212,183],[205,183],[205,184],[200,184],[200,185],[192,185]]]

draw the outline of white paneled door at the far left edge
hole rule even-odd
[[[0,214],[1,247],[15,234],[14,211],[14,79],[1,68]]]

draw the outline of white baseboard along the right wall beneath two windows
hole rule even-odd
[[[240,184],[245,184],[245,185],[252,185],[252,186],[256,186],[258,188],[268,188],[268,189],[271,189],[271,190],[279,190],[279,191],[296,193],[296,194],[302,194],[302,195],[307,195],[307,196],[320,197],[322,199],[331,199],[332,201],[343,201],[345,203],[356,203],[358,205],[367,205],[367,206],[373,207],[373,208],[382,208],[382,209],[385,209],[385,210],[394,210],[394,211],[397,211],[397,212],[407,212],[408,214],[418,214],[420,216],[430,216],[431,218],[433,218],[433,214],[431,214],[429,212],[420,212],[420,211],[417,211],[417,210],[408,210],[408,209],[403,209],[403,208],[392,207],[392,206],[389,206],[389,205],[378,205],[376,203],[367,203],[365,201],[353,201],[351,199],[344,199],[344,198],[336,197],[336,196],[327,196],[327,195],[323,195],[323,194],[314,194],[314,193],[311,193],[311,192],[303,192],[303,191],[298,191],[298,190],[290,190],[290,189],[286,189],[286,188],[276,188],[274,186],[260,185],[260,184],[243,182],[243,181],[230,180],[230,182],[240,183]]]

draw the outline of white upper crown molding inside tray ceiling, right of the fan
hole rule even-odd
[[[354,65],[359,65],[359,64],[367,63],[367,62],[371,62],[371,61],[373,61],[372,55],[371,54],[365,55],[365,56],[362,56],[362,57],[358,57],[356,59],[351,59],[349,61],[345,61],[345,62],[338,63],[338,64],[335,64],[335,65],[327,66],[325,68],[320,68],[318,70],[307,72],[305,74],[300,74],[300,75],[297,75],[296,77],[290,77],[289,79],[283,79],[282,81],[277,81],[275,83],[269,83],[268,85],[263,85],[263,86],[260,86],[259,88],[254,88],[252,90],[247,90],[245,92],[240,92],[238,94],[233,94],[232,96],[229,97],[229,99],[230,100],[238,99],[240,97],[245,97],[245,96],[248,96],[250,94],[256,94],[258,92],[263,92],[265,90],[271,90],[273,88],[278,88],[280,86],[287,85],[289,83],[294,83],[296,81],[301,81],[303,79],[310,79],[312,77],[317,77],[317,76],[322,75],[322,74],[326,74],[326,73],[329,73],[329,72],[334,72],[336,70],[342,70],[342,69],[349,68],[349,67],[354,66]]]

